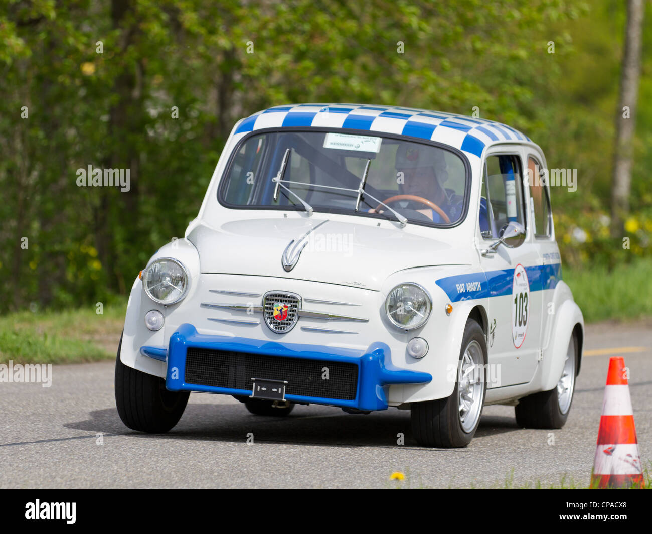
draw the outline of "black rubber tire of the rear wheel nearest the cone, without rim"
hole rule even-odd
[[[573,371],[575,376],[577,376],[578,342],[575,334],[572,334],[569,343],[572,343],[575,362]],[[574,394],[574,381],[572,394]],[[543,428],[550,430],[563,427],[571,411],[572,394],[571,403],[569,403],[566,413],[562,413],[559,408],[559,392],[557,386],[550,391],[541,391],[520,399],[514,407],[516,424],[522,428]]]

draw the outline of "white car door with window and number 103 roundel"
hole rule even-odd
[[[488,360],[497,365],[499,381],[489,388],[528,383],[537,368],[541,344],[541,255],[529,223],[527,187],[523,180],[522,149],[497,146],[483,160],[481,209],[477,243],[489,290]],[[490,245],[510,221],[526,229],[524,241],[513,248]]]

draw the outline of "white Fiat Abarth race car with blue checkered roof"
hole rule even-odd
[[[239,121],[185,238],[131,290],[115,369],[129,428],[190,392],[258,415],[409,409],[464,447],[482,407],[561,428],[584,319],[561,280],[541,148],[493,121],[357,104]]]

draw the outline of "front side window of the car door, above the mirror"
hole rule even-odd
[[[497,239],[510,221],[526,226],[522,173],[515,154],[490,155],[482,176],[480,230],[484,239]]]

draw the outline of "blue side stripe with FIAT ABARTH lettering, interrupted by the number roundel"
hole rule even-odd
[[[526,267],[530,291],[554,289],[561,280],[561,263]],[[514,269],[505,269],[440,278],[437,285],[451,302],[512,294]],[[460,287],[458,287],[458,285]],[[462,287],[463,286],[463,287]],[[462,291],[459,291],[459,290]]]

